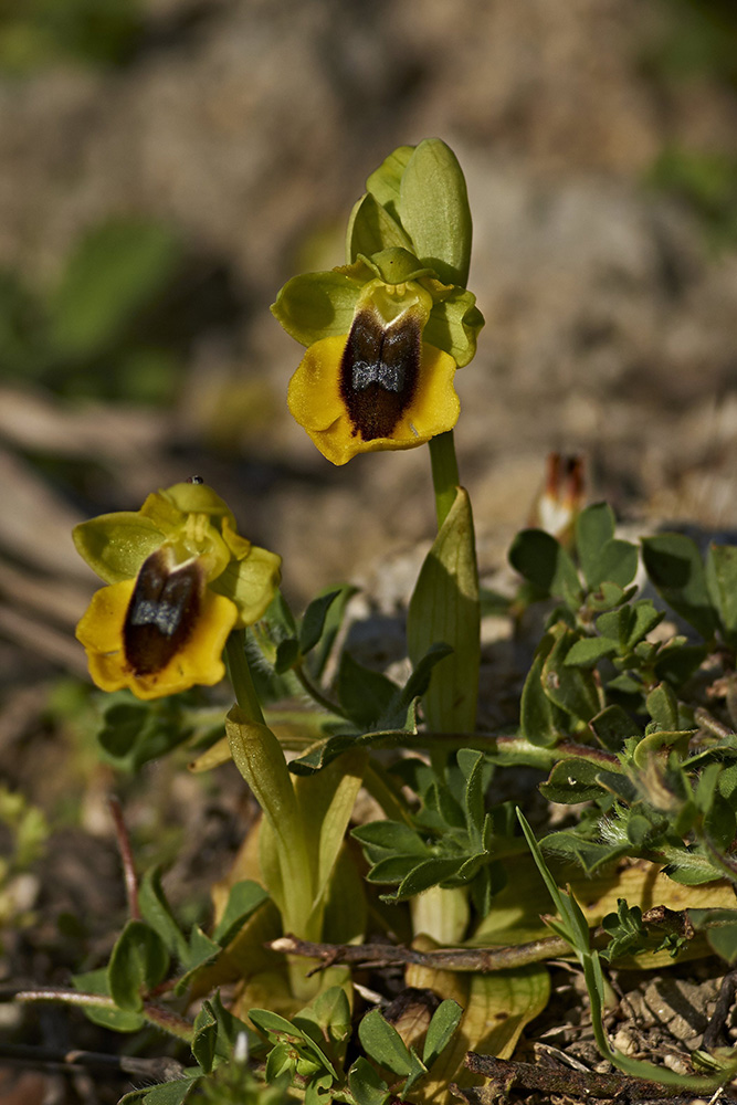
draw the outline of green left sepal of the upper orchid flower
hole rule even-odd
[[[371,278],[371,273],[362,265],[354,269],[365,275],[334,269],[331,272],[294,276],[276,296],[272,314],[286,333],[304,346],[310,346],[320,338],[347,334],[359,293]]]

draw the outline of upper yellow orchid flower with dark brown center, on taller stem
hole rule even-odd
[[[481,316],[470,292],[442,284],[408,251],[296,276],[272,309],[307,346],[289,411],[334,464],[413,449],[455,425],[453,378],[475,351]]]

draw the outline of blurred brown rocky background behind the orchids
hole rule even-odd
[[[551,450],[635,530],[734,536],[734,0],[0,0],[0,835],[25,841],[0,982],[104,961],[112,787],[139,863],[179,857],[188,908],[243,832],[234,772],[214,797],[101,767],[74,523],[198,474],[283,555],[296,606],[351,579],[386,610],[411,587],[427,451],[325,461],[287,414],[301,347],[269,304],[344,261],[366,176],[433,135],[467,177],[487,323],[457,377],[482,569]],[[82,1017],[31,1023],[85,1044]],[[0,1097],[102,1099],[34,1077]]]

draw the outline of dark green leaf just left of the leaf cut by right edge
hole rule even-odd
[[[684,534],[644,537],[642,557],[657,592],[702,636],[710,640],[716,629],[716,617],[695,541]]]

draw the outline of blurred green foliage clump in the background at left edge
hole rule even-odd
[[[181,243],[169,228],[114,219],[78,239],[46,291],[0,273],[7,373],[64,396],[170,400],[181,338],[168,333],[164,307],[182,264]]]

